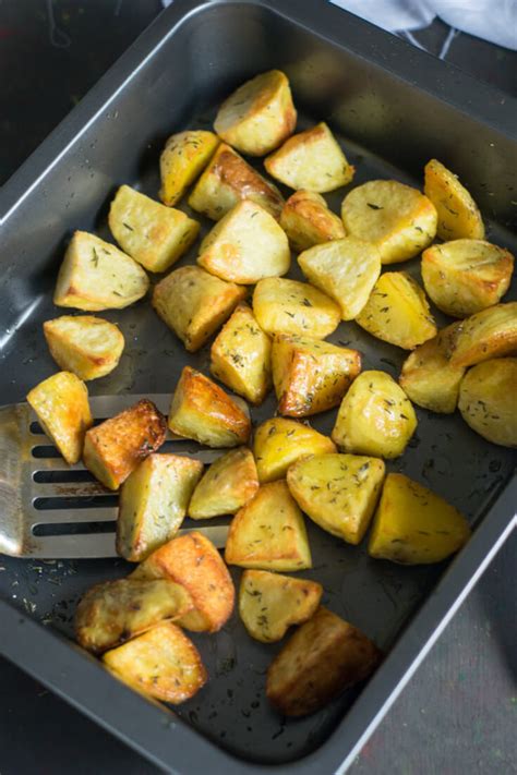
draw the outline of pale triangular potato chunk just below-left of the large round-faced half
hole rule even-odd
[[[344,320],[352,320],[366,304],[381,274],[381,254],[354,237],[314,245],[298,256],[309,282],[339,304]]]

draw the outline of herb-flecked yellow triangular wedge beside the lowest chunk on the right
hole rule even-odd
[[[377,505],[385,465],[359,455],[314,455],[297,460],[287,485],[298,506],[320,528],[360,544]]]

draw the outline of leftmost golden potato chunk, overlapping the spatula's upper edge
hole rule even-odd
[[[86,385],[75,374],[58,372],[36,385],[27,401],[39,423],[70,465],[81,458],[86,431],[93,425]]]

